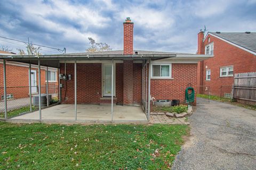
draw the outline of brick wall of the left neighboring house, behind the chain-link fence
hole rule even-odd
[[[37,71],[38,84],[38,69]],[[57,78],[58,80],[58,78]],[[58,85],[57,83],[49,83],[49,86]],[[13,94],[14,99],[29,97],[29,71],[28,67],[6,64],[6,90],[7,95]],[[45,70],[41,70],[41,92],[46,93]],[[3,80],[3,64],[0,64],[0,96],[4,95],[4,80]],[[49,90],[51,93],[51,91]]]

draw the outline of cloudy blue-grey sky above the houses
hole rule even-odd
[[[134,49],[195,53],[200,29],[256,32],[256,0],[0,1],[0,36],[85,52],[87,37],[123,49],[123,22],[134,22]],[[8,41],[8,42],[6,42]],[[13,52],[24,44],[0,38]],[[43,53],[57,53],[43,48]],[[47,51],[46,51],[47,50]]]

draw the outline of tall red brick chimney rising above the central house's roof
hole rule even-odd
[[[127,17],[124,22],[124,55],[133,54],[133,22]]]

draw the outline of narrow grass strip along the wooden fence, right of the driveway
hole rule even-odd
[[[201,98],[209,99],[209,95],[197,94],[196,96],[197,97],[201,97]],[[246,105],[246,104],[237,103],[237,102],[235,102],[234,100],[232,100],[230,98],[210,95],[210,100],[221,101],[221,102],[228,102],[228,103],[230,103],[232,105],[236,105],[236,106],[240,106],[240,107],[244,107],[244,108],[256,111],[256,105]]]

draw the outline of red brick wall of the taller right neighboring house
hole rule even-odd
[[[233,65],[234,74],[255,72],[256,56],[211,35],[206,37],[203,47],[210,44],[207,42],[209,37],[210,43],[214,42],[214,57],[204,60],[201,69],[198,68],[198,70],[201,70],[201,83],[199,85],[209,86],[212,95],[223,96],[225,92],[230,93],[234,77],[220,77],[220,67]],[[201,54],[204,54],[204,50]],[[205,80],[206,66],[207,69],[211,69],[210,81]],[[203,91],[200,92],[202,93]]]

